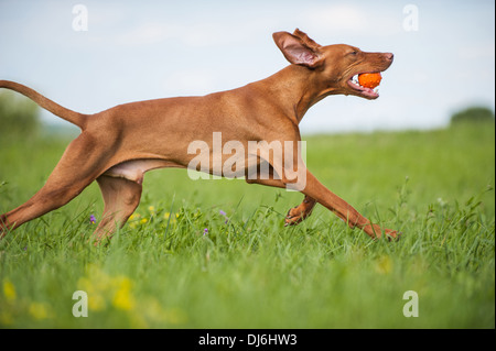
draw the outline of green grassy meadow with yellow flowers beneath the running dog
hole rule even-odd
[[[399,242],[371,241],[322,206],[284,228],[298,193],[155,171],[108,245],[88,243],[95,184],[1,240],[0,326],[495,327],[494,124],[306,141],[312,173]],[[0,212],[43,185],[66,144],[0,141]],[[72,315],[76,290],[87,318]],[[407,290],[419,317],[403,316]]]

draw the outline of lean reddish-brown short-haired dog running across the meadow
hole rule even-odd
[[[195,155],[188,145],[195,141],[203,141],[207,146],[209,160],[228,161],[229,152],[211,151],[212,146],[215,150],[213,135],[220,132],[224,140],[237,141],[244,150],[249,150],[250,141],[281,145],[282,156],[267,149],[248,154],[237,163],[237,174],[240,171],[250,184],[291,187],[300,183],[295,188],[304,194],[304,200],[290,209],[285,224],[299,223],[320,202],[349,227],[357,227],[371,238],[381,237],[382,231],[388,238],[396,238],[396,231],[381,230],[323,186],[302,164],[295,144],[301,140],[298,125],[306,110],[326,96],[377,98],[373,89],[357,85],[352,78],[387,69],[392,54],[365,53],[348,45],[321,46],[298,29],[293,34],[274,33],[273,40],[291,65],[263,80],[204,97],[120,105],[96,114],[71,111],[25,86],[0,80],[0,87],[25,95],[82,130],[40,191],[0,216],[0,237],[67,204],[94,180],[98,182],[105,201],[96,239],[109,237],[137,208],[145,172],[162,167],[191,168]],[[213,174],[216,173],[214,163],[193,168]],[[260,174],[262,164],[268,166],[266,176]]]

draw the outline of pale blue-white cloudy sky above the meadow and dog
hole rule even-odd
[[[0,79],[84,113],[206,95],[284,68],[272,33],[299,28],[322,45],[395,54],[377,100],[330,96],[302,133],[435,129],[468,106],[495,109],[494,12],[492,0],[0,0]]]

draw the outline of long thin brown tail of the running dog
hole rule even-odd
[[[87,114],[78,113],[69,109],[66,109],[65,107],[62,107],[58,103],[45,98],[40,92],[34,91],[33,89],[28,88],[26,86],[23,86],[22,84],[10,80],[0,80],[0,88],[7,88],[10,90],[18,91],[23,96],[30,98],[34,102],[36,102],[40,107],[48,110],[53,114],[58,116],[60,118],[73,124],[76,124],[80,129],[85,128],[86,120],[88,117]]]

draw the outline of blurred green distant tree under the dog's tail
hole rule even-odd
[[[0,91],[0,139],[34,136],[40,131],[40,109],[28,98]]]

